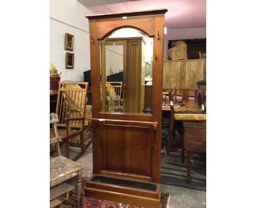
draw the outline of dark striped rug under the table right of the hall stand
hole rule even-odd
[[[206,156],[193,154],[191,181],[187,183],[187,153],[181,163],[181,149],[171,149],[170,155],[161,154],[161,183],[206,191]]]

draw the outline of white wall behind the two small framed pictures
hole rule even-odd
[[[77,0],[50,0],[50,63],[61,80],[83,81],[90,70],[89,24],[91,12]],[[74,50],[65,50],[65,33],[74,35]],[[66,52],[74,53],[74,69],[65,69]]]

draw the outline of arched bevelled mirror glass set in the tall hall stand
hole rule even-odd
[[[134,28],[100,41],[101,112],[151,112],[153,41]]]

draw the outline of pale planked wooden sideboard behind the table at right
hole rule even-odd
[[[196,82],[206,80],[206,59],[166,60],[163,67],[162,88],[196,89]],[[179,94],[179,91],[177,91]],[[191,91],[189,95],[194,95]]]

